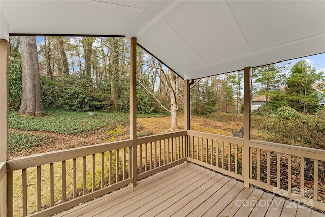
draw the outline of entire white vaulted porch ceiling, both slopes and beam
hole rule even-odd
[[[136,37],[185,79],[325,52],[325,1],[1,0],[0,32]],[[4,27],[5,26],[5,27]]]

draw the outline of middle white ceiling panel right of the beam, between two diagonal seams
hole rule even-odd
[[[164,20],[210,65],[250,53],[236,20],[229,13],[225,1],[184,1]]]

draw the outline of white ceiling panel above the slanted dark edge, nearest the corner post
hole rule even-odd
[[[153,25],[137,42],[181,77],[193,68],[204,66],[163,21]]]

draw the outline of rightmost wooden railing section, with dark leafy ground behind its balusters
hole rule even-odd
[[[250,184],[325,210],[324,191],[318,194],[324,188],[325,150],[256,140],[249,149]]]

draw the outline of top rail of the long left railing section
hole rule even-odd
[[[69,159],[88,156],[95,153],[101,153],[126,147],[132,147],[132,140],[122,140],[103,144],[89,145],[85,147],[72,148],[67,150],[52,151],[30,156],[19,157],[7,161],[7,171],[11,172],[17,169],[39,166],[43,164],[65,161]]]

